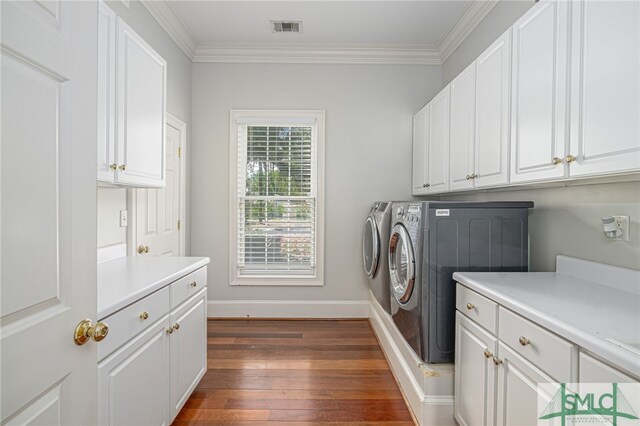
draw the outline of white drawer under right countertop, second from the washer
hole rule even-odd
[[[577,350],[550,331],[500,307],[498,338],[559,382],[570,383]]]

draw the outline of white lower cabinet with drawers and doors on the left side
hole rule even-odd
[[[171,424],[207,369],[206,307],[203,267],[101,319],[100,425]]]

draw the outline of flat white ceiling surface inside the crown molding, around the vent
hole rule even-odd
[[[178,1],[171,7],[196,42],[437,47],[469,1]],[[301,34],[270,20],[302,21]]]

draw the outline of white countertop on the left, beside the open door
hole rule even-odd
[[[121,257],[98,265],[98,320],[209,263],[208,257]]]

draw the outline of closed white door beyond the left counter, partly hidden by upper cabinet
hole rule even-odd
[[[186,140],[186,124],[167,114],[165,126],[167,185],[158,189],[135,190],[135,247],[141,255],[184,256],[185,184],[182,150]]]

